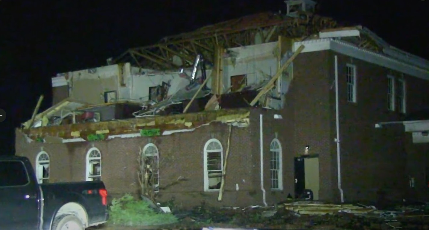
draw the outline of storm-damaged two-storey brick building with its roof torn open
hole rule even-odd
[[[426,199],[429,127],[405,120],[429,105],[429,62],[286,2],[58,74],[16,154],[40,183],[112,196],[139,193],[143,155],[157,199],[181,206]]]

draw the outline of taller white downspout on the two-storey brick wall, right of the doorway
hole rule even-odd
[[[340,149],[340,116],[338,111],[338,57],[335,55],[335,120],[337,128],[337,178],[338,178],[338,190],[340,191],[341,203],[344,203],[344,193],[341,188],[341,149]]]

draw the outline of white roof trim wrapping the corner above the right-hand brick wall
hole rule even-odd
[[[425,65],[424,68],[423,65],[421,65],[422,68],[413,66],[403,61],[399,61],[395,58],[390,58],[383,54],[359,48],[356,45],[353,45],[348,42],[328,38],[313,39],[303,42],[295,42],[293,45],[293,51],[296,51],[296,49],[301,44],[305,45],[305,48],[302,51],[303,53],[330,49],[340,54],[367,61],[369,63],[377,64],[379,66],[386,67],[391,70],[396,70],[401,73],[418,77],[420,79],[429,80],[429,65]]]

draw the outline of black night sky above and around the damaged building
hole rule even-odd
[[[391,45],[429,59],[429,0],[318,0],[321,15],[369,27]],[[264,11],[283,0],[0,0],[0,154],[14,152],[14,127],[40,94],[51,106],[51,77],[98,67],[127,48]],[[426,15],[426,17],[424,16]]]

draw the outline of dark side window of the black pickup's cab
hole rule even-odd
[[[0,187],[27,185],[27,170],[20,161],[0,161]]]

